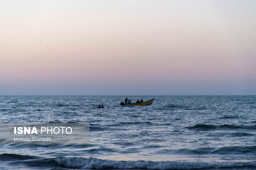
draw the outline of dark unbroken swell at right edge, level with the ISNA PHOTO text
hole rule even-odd
[[[238,126],[238,125],[208,125],[208,124],[196,124],[191,127],[185,127],[187,129],[195,129],[195,130],[211,130],[211,129],[249,129],[256,130],[256,125],[253,126]]]

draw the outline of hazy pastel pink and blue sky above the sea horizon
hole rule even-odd
[[[0,0],[0,95],[256,95],[256,0]]]

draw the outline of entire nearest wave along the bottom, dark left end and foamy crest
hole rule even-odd
[[[72,169],[144,169],[144,170],[172,170],[172,169],[206,169],[206,168],[246,168],[256,169],[256,161],[250,162],[191,162],[191,161],[120,161],[98,158],[62,157],[41,158],[18,154],[0,154],[0,156],[14,158],[10,162],[13,168],[72,168]],[[2,158],[0,157],[0,160]],[[9,159],[10,160],[10,159]],[[17,161],[18,160],[18,161]],[[2,160],[3,161],[3,160]],[[9,167],[10,167],[9,165]],[[24,167],[24,168],[25,168]]]

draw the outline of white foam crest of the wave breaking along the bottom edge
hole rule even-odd
[[[58,164],[66,167],[75,167],[81,169],[202,169],[202,168],[232,168],[249,166],[256,168],[256,161],[251,162],[187,162],[187,161],[119,161],[119,160],[103,160],[98,158],[78,158],[78,157],[57,157]]]

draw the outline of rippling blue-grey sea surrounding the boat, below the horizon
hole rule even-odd
[[[21,122],[89,123],[90,144],[0,145],[0,169],[256,169],[256,96],[0,96]]]

